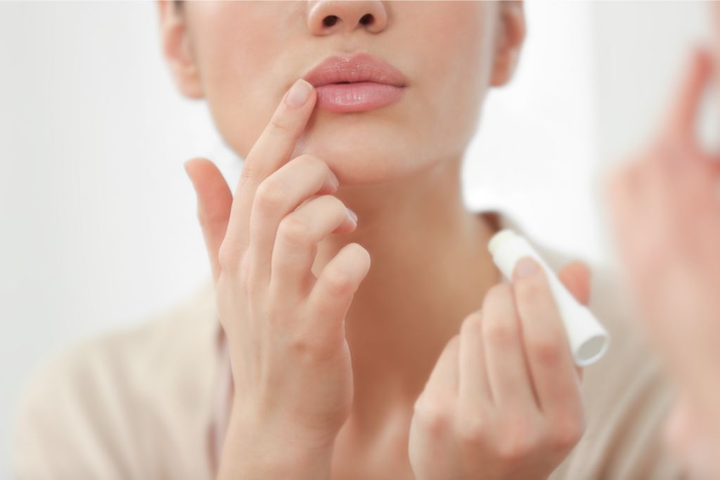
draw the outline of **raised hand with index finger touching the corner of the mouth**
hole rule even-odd
[[[338,179],[328,165],[312,155],[289,159],[316,97],[310,83],[294,84],[246,156],[234,198],[209,160],[185,163],[233,370],[220,476],[261,474],[257,463],[239,464],[251,456],[273,463],[331,452],[350,411],[344,321],[370,257],[349,243],[317,278],[312,273],[320,240],[356,227],[333,196]]]

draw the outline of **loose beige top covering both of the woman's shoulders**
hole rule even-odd
[[[554,268],[568,260],[539,251]],[[610,272],[593,269],[590,308],[611,347],[585,369],[588,427],[551,479],[680,479],[662,448],[669,385]],[[212,478],[227,374],[212,281],[147,320],[85,340],[32,376],[15,417],[18,480]]]

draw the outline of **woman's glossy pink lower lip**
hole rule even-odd
[[[329,83],[315,87],[318,109],[327,112],[365,112],[400,100],[403,87],[375,83]]]

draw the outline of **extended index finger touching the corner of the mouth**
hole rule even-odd
[[[295,81],[246,155],[235,188],[226,235],[233,248],[243,249],[248,244],[250,211],[258,185],[290,160],[316,98],[312,84],[302,78]]]

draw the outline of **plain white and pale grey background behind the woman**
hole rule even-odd
[[[598,172],[667,110],[696,3],[528,2],[513,83],[467,155],[469,204],[611,258]],[[22,382],[53,352],[145,320],[210,275],[182,162],[238,160],[176,93],[151,3],[0,3],[0,478]]]

